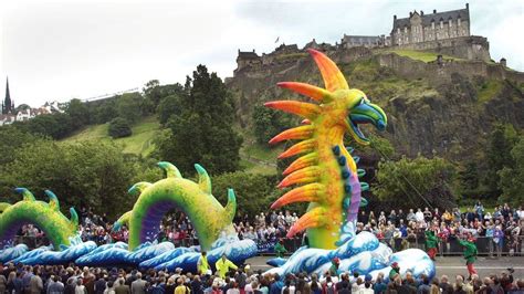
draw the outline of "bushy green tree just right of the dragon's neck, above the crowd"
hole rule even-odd
[[[436,207],[450,207],[454,200],[455,168],[439,157],[381,161],[376,176],[371,190],[381,201],[398,203],[402,199],[402,206],[412,208],[426,201]]]

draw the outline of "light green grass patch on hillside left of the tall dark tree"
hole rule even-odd
[[[155,116],[146,117],[137,122],[133,127],[133,136],[113,139],[107,134],[109,124],[88,126],[63,141],[80,140],[113,140],[122,146],[125,154],[136,154],[147,156],[153,151],[153,139],[160,129],[160,124]]]

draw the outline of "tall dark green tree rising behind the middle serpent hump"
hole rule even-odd
[[[234,104],[226,85],[199,65],[185,91],[188,94],[180,96],[180,114],[167,123],[170,133],[157,139],[157,156],[191,174],[196,162],[214,175],[237,170],[242,138],[233,129]]]

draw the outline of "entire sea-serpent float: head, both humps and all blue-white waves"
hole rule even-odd
[[[359,145],[369,140],[360,132],[360,124],[373,124],[379,130],[387,125],[386,114],[371,104],[361,91],[349,88],[344,75],[323,53],[310,50],[318,65],[325,88],[295,82],[279,83],[279,86],[311,97],[316,103],[276,101],[265,105],[304,118],[302,126],[285,130],[270,143],[300,140],[279,158],[300,156],[285,170],[280,188],[295,186],[277,199],[272,208],[277,209],[294,202],[310,202],[307,212],[291,228],[287,237],[306,230],[308,245],[301,248],[287,260],[275,259],[270,264],[276,267],[271,273],[308,272],[324,274],[337,258],[339,271],[358,271],[376,276],[387,273],[390,264],[400,264],[401,273],[415,275],[434,274],[429,256],[418,249],[392,253],[369,232],[356,234],[358,209],[366,204],[361,191],[368,185],[360,182],[364,170],[357,169],[358,157],[352,156],[344,146],[344,135],[349,134]],[[23,200],[15,204],[0,203],[0,262],[23,264],[77,265],[135,265],[142,269],[174,270],[181,267],[196,271],[200,251],[208,252],[208,261],[226,254],[234,263],[242,263],[256,254],[252,240],[239,240],[232,219],[237,211],[237,199],[232,189],[228,191],[228,203],[222,207],[211,193],[208,172],[195,165],[198,182],[182,178],[180,171],[169,162],[159,162],[166,178],[155,183],[138,182],[130,195],[138,195],[133,210],[124,213],[114,224],[129,228],[129,242],[116,242],[97,246],[94,242],[82,242],[78,218],[72,208],[71,220],[60,212],[56,196],[45,191],[50,202],[36,201],[24,188],[15,191]],[[155,241],[160,221],[169,210],[178,208],[188,216],[193,225],[199,246],[175,248],[170,242]],[[42,229],[52,245],[29,251],[24,244],[9,246],[17,230],[25,223]]]

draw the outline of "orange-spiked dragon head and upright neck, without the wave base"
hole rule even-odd
[[[265,104],[304,118],[303,126],[284,130],[270,140],[270,144],[301,140],[279,156],[301,155],[284,170],[286,177],[279,185],[279,188],[297,187],[277,199],[272,208],[311,202],[287,237],[307,229],[311,248],[335,249],[354,235],[354,230],[345,228],[354,228],[358,208],[366,203],[360,192],[368,189],[367,183],[358,180],[365,172],[356,167],[358,157],[352,157],[345,148],[344,135],[348,133],[357,144],[367,145],[369,140],[358,125],[373,124],[384,130],[387,117],[364,92],[349,88],[332,60],[318,51],[308,52],[321,71],[325,88],[296,82],[277,85],[316,103],[275,101]]]

